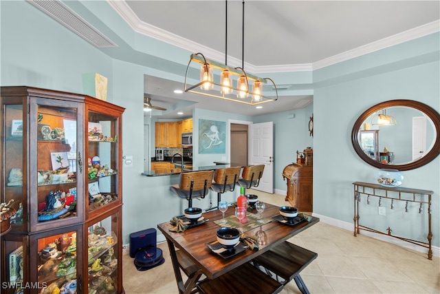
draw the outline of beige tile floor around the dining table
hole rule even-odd
[[[280,194],[256,190],[249,193],[257,194],[264,202],[287,204]],[[352,231],[322,222],[289,241],[318,253],[318,258],[301,272],[310,293],[440,293],[440,259],[428,260],[425,253],[362,234],[353,237]],[[168,246],[166,242],[157,246],[164,252],[165,263],[154,269],[137,271],[129,255],[122,258],[127,294],[177,293]],[[300,291],[292,281],[281,293]]]

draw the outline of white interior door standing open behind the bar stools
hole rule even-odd
[[[250,125],[250,165],[265,165],[259,191],[274,193],[274,123]]]

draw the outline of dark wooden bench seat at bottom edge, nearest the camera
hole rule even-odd
[[[214,280],[199,282],[197,289],[203,294],[270,294],[280,292],[283,285],[247,262]]]

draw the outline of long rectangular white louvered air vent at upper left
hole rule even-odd
[[[107,36],[104,36],[73,10],[65,6],[63,2],[59,0],[28,0],[28,2],[97,48],[118,47]]]

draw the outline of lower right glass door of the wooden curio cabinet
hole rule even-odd
[[[120,209],[87,227],[88,287],[90,294],[120,293],[122,288],[122,245]]]

